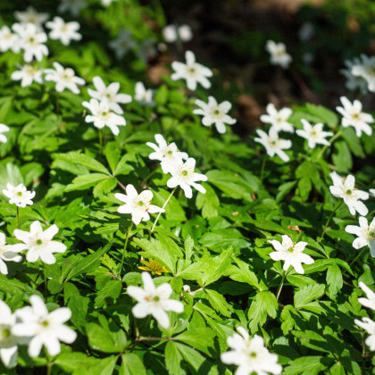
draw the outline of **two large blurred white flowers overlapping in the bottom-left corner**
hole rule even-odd
[[[72,344],[77,333],[64,323],[71,319],[71,309],[61,307],[48,312],[40,296],[29,298],[30,306],[12,313],[0,300],[0,359],[7,368],[15,367],[18,346],[28,345],[30,357],[37,357],[43,346],[49,355],[61,352],[60,342]]]

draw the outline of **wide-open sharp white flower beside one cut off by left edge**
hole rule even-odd
[[[43,231],[39,221],[34,221],[30,225],[29,232],[14,229],[13,236],[22,241],[23,244],[12,245],[12,251],[28,250],[28,254],[26,254],[28,262],[37,262],[40,258],[46,264],[54,264],[56,259],[53,253],[64,253],[66,250],[64,244],[52,240],[58,231],[59,229],[55,224]]]

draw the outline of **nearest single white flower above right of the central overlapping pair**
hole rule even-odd
[[[227,130],[224,124],[233,125],[237,121],[227,114],[232,107],[232,104],[227,100],[218,104],[213,96],[208,96],[208,104],[204,103],[202,100],[196,99],[196,105],[201,108],[194,110],[193,113],[204,116],[202,119],[204,126],[215,124],[216,129],[221,134],[225,133]]]

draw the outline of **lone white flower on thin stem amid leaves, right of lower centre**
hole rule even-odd
[[[313,259],[310,255],[304,254],[304,247],[307,246],[307,242],[301,241],[296,244],[293,243],[292,239],[284,235],[282,236],[282,243],[276,239],[268,241],[276,251],[270,254],[271,259],[276,261],[285,261],[283,270],[287,271],[291,265],[296,272],[304,273],[304,267],[301,263],[312,264]]]

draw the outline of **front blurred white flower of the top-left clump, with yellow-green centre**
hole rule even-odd
[[[19,46],[24,51],[23,60],[26,63],[30,63],[34,58],[40,62],[43,56],[48,55],[48,48],[44,45],[47,40],[46,33],[39,31],[33,23],[14,23],[12,29],[19,37]]]

